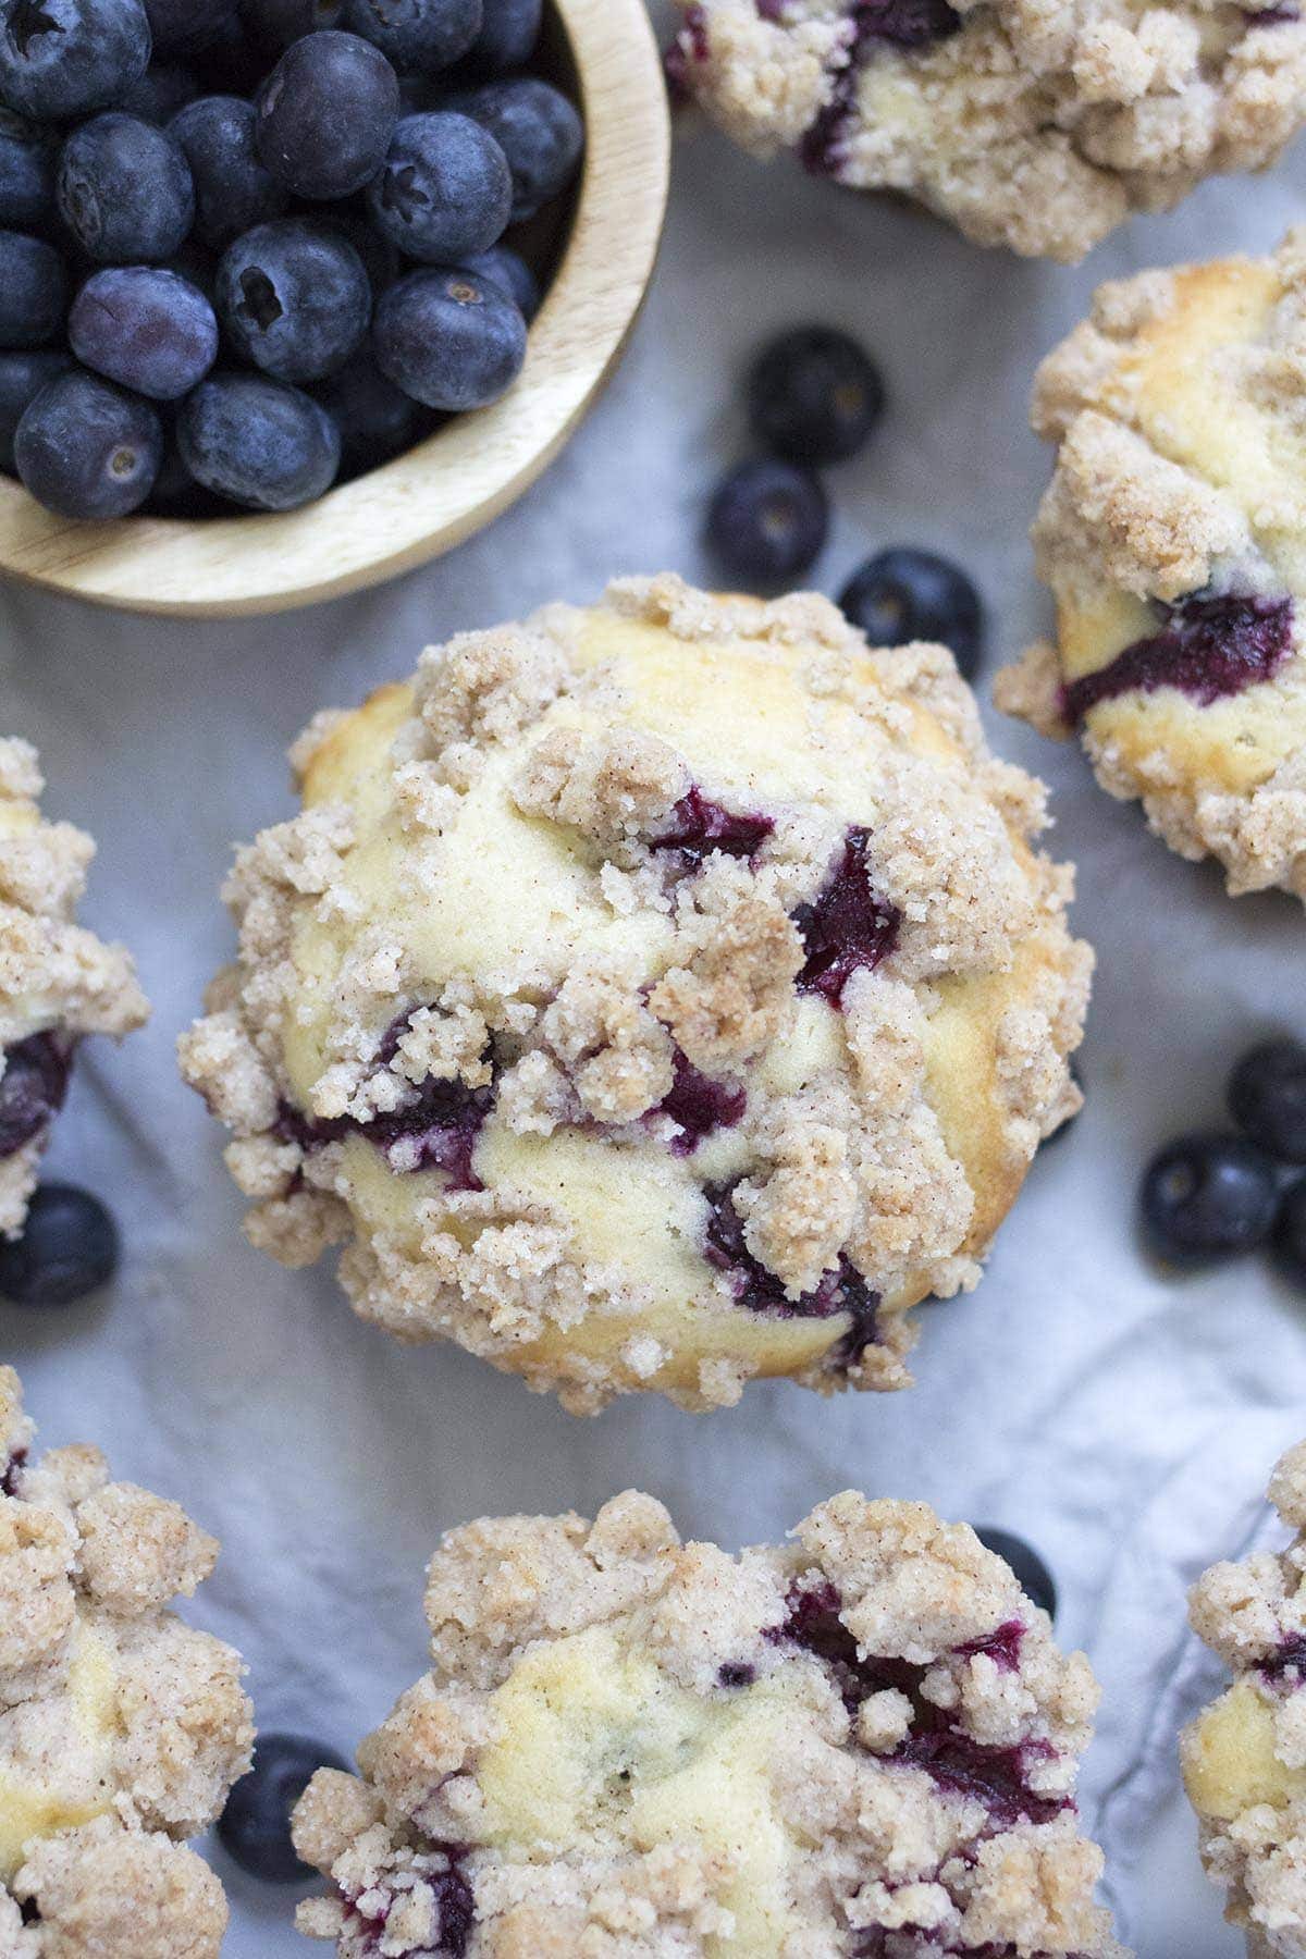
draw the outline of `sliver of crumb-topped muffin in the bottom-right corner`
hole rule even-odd
[[[1192,1589],[1192,1630],[1234,1681],[1183,1736],[1202,1863],[1247,1928],[1253,1959],[1306,1955],[1306,1442],[1283,1457],[1271,1503],[1296,1538],[1220,1563]]]

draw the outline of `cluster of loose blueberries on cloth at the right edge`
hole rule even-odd
[[[1306,1046],[1267,1040],[1230,1075],[1236,1130],[1167,1144],[1142,1185],[1143,1226],[1173,1264],[1269,1248],[1306,1291]]]

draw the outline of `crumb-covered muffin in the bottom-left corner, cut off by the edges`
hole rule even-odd
[[[186,1849],[251,1761],[241,1659],[164,1610],[217,1546],[92,1448],[31,1454],[0,1367],[0,1953],[217,1959]]]

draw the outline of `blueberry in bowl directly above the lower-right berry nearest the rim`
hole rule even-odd
[[[427,264],[488,251],[511,208],[507,157],[470,116],[405,116],[368,184],[376,227]]]

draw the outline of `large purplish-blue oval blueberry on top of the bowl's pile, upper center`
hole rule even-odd
[[[356,33],[292,41],[258,90],[258,155],[300,198],[349,198],[380,170],[399,119],[399,82]]]

